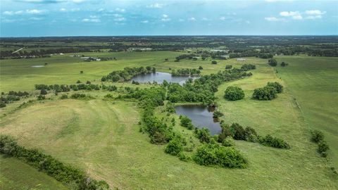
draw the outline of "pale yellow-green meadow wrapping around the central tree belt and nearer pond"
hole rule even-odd
[[[249,168],[244,170],[203,167],[163,153],[163,146],[150,144],[146,134],[139,132],[134,103],[46,101],[6,116],[0,123],[0,132],[12,134],[19,138],[20,144],[42,148],[66,163],[82,167],[97,179],[105,179],[112,187],[123,189],[338,188],[329,166],[315,152],[315,144],[308,141],[308,128],[289,91],[274,101],[250,99],[254,88],[268,81],[279,81],[273,69],[257,58],[249,58],[246,63],[258,65],[253,76],[223,84],[217,93],[220,110],[225,113],[223,119],[250,125],[260,134],[282,137],[292,149],[237,141],[237,147],[249,159]],[[165,71],[169,67],[202,65],[203,72],[210,73],[226,64],[243,63],[170,61],[156,66]],[[244,88],[246,99],[225,101],[223,91],[230,84]]]

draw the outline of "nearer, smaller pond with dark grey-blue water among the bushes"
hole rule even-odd
[[[208,106],[182,105],[175,107],[178,115],[186,115],[195,127],[207,127],[211,134],[221,132],[220,122],[213,119],[213,112]]]

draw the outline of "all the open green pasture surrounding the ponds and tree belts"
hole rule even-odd
[[[97,44],[97,45],[100,45]],[[102,45],[102,44],[101,44]],[[18,144],[27,148],[37,148],[43,153],[74,165],[90,177],[106,181],[111,189],[337,189],[337,72],[338,59],[333,57],[313,57],[306,55],[274,56],[278,63],[288,63],[286,67],[273,68],[268,59],[246,57],[246,61],[236,58],[217,60],[212,58],[182,59],[177,56],[187,51],[121,51],[121,52],[81,52],[92,57],[111,57],[111,61],[83,61],[71,57],[74,53],[64,53],[49,58],[1,60],[1,92],[28,91],[30,96],[20,101],[8,103],[1,108],[0,133],[18,139]],[[194,52],[193,52],[194,53]],[[168,60],[166,60],[168,59]],[[45,63],[47,63],[45,65]],[[225,70],[225,65],[241,68],[245,63],[256,65],[250,77],[223,82],[215,92],[218,110],[224,113],[220,119],[226,123],[237,122],[256,129],[258,134],[271,134],[287,141],[291,148],[278,149],[249,141],[235,141],[235,146],[248,160],[248,167],[230,169],[206,167],[192,160],[184,162],[165,153],[165,144],[149,142],[146,133],[140,132],[139,121],[144,110],[137,101],[111,99],[125,93],[123,88],[134,88],[130,82],[101,82],[101,77],[113,70],[125,67],[156,68],[156,71],[171,72],[182,68],[203,68],[201,75],[215,74]],[[34,68],[33,65],[44,65]],[[81,73],[80,71],[83,71]],[[53,92],[46,99],[37,101],[40,91],[35,84],[75,84],[77,80],[92,84],[113,84],[118,91],[80,90],[90,99],[60,99],[75,91]],[[253,90],[264,87],[268,82],[279,82],[284,92],[272,101],[251,99]],[[229,86],[241,87],[246,94],[239,101],[224,99],[224,91]],[[159,84],[139,84],[139,89],[161,87]],[[34,100],[27,103],[29,100]],[[22,105],[26,102],[25,106]],[[167,116],[165,106],[158,106],[155,115]],[[318,129],[325,134],[330,146],[327,158],[317,152],[317,145],[311,142],[310,129]],[[192,139],[188,144],[200,146],[192,130],[173,125],[175,132]],[[188,138],[188,139],[189,139]],[[192,156],[193,152],[187,152]],[[20,189],[41,184],[42,189],[67,188],[44,173],[37,173],[34,167],[15,158],[1,157],[2,189]],[[6,164],[11,163],[11,164]],[[15,164],[14,164],[15,163]],[[16,169],[16,167],[21,169]],[[333,169],[336,168],[336,169]],[[3,172],[23,170],[23,172]],[[11,173],[11,174],[10,174]],[[41,182],[25,182],[23,176],[42,176]],[[20,183],[15,181],[20,179]],[[252,183],[252,182],[255,183]],[[69,187],[69,186],[68,186]],[[38,189],[38,188],[37,188]]]

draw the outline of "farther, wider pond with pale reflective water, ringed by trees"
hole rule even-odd
[[[155,72],[155,73],[149,73],[145,75],[137,75],[136,77],[133,77],[132,80],[139,82],[139,83],[146,83],[146,82],[157,82],[158,84],[162,84],[163,80],[166,80],[167,82],[175,82],[180,83],[181,85],[184,84],[184,82],[195,77],[189,77],[189,76],[172,76],[170,73],[167,72]]]

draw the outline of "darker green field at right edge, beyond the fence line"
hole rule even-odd
[[[280,56],[285,68],[278,76],[287,83],[287,91],[298,101],[306,125],[325,133],[330,158],[338,167],[338,58]]]

